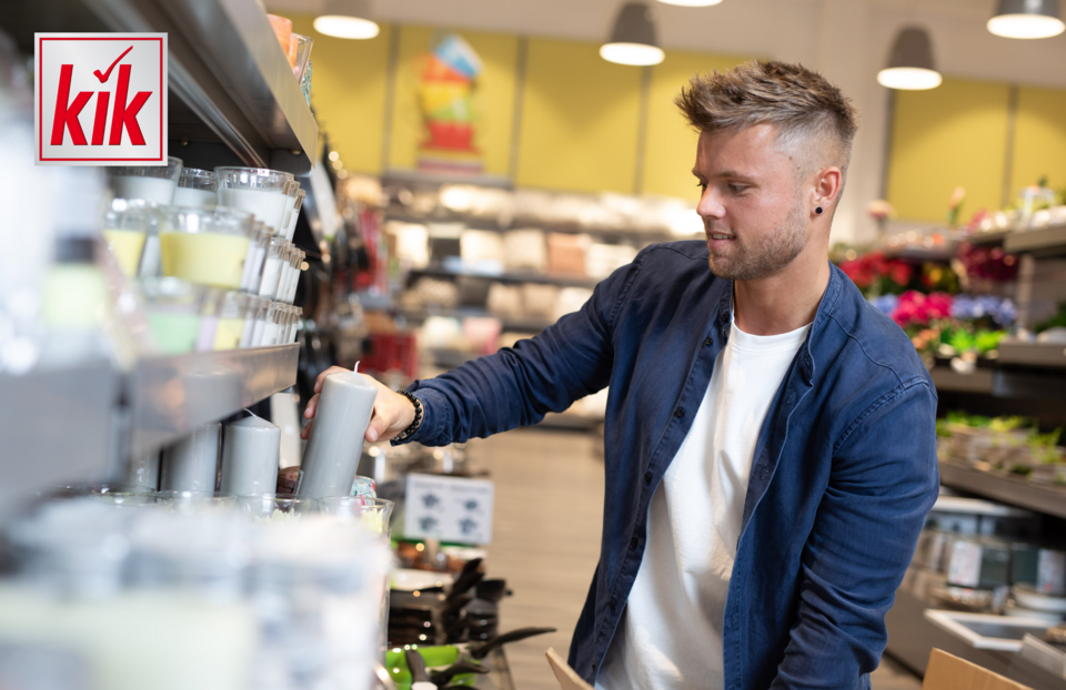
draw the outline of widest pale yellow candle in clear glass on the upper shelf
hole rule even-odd
[[[241,286],[248,236],[164,232],[160,233],[159,241],[163,275],[201,285],[234,290]]]

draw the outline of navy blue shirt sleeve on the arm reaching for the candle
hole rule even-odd
[[[605,387],[614,319],[646,252],[596,285],[581,310],[535,337],[415,382],[409,390],[422,402],[424,417],[408,440],[443,446],[483,438],[536,424]]]

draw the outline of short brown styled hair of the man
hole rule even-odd
[[[696,74],[674,102],[703,132],[773,124],[784,148],[815,140],[826,154],[823,160],[847,174],[858,129],[855,108],[839,89],[802,64],[752,60],[725,72]]]

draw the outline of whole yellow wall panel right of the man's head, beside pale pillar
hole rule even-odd
[[[1007,136],[1007,84],[945,78],[929,91],[897,91],[888,201],[903,219],[943,222],[956,185],[959,221],[999,209]]]

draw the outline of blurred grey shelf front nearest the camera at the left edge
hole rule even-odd
[[[0,525],[29,491],[105,475],[119,397],[119,376],[108,361],[0,375]]]

